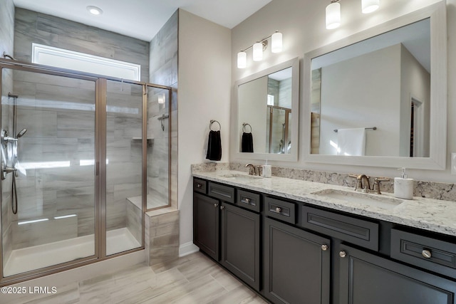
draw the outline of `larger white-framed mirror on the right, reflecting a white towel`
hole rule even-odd
[[[445,169],[445,1],[306,53],[306,161]]]

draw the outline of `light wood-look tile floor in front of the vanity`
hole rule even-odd
[[[19,303],[267,303],[202,253],[171,263],[141,264],[74,282],[55,295],[30,295]]]

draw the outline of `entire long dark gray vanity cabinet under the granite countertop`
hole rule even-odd
[[[194,182],[194,242],[271,303],[456,304],[456,237]]]

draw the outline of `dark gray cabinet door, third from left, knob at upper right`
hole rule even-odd
[[[328,304],[330,241],[264,219],[264,295],[273,303]]]

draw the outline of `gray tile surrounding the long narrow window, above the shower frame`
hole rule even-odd
[[[141,81],[149,80],[149,43],[82,23],[16,9],[14,56],[31,61],[31,43],[88,53],[141,65]]]

